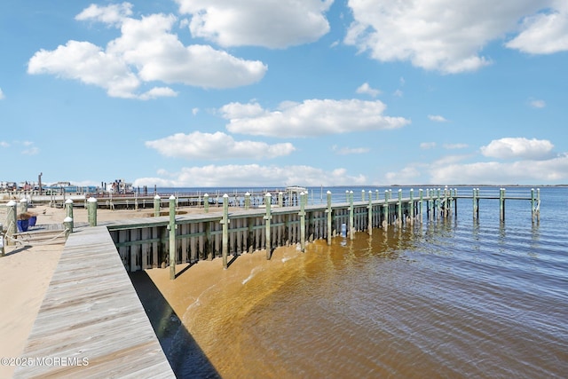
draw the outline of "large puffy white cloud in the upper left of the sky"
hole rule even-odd
[[[122,7],[122,8],[121,8]],[[70,40],[54,51],[40,50],[29,59],[29,74],[51,74],[106,89],[111,97],[155,99],[175,96],[169,87],[138,93],[147,83],[183,83],[203,88],[233,88],[256,83],[267,67],[257,60],[233,57],[209,45],[185,46],[171,28],[173,15],[126,17],[130,4],[91,5],[78,20],[98,20],[120,26],[121,36],[103,49]]]

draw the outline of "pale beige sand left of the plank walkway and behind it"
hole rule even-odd
[[[37,225],[60,224],[66,217],[66,209],[37,206],[29,210],[39,215]],[[97,219],[100,223],[152,212],[99,209]],[[88,222],[84,208],[74,208],[73,216],[75,223]],[[63,247],[63,243],[5,246],[5,257],[0,257],[0,358],[17,358],[24,350]],[[13,366],[0,365],[0,379],[12,377],[14,370]]]

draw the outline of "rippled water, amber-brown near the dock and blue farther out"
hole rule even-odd
[[[170,312],[146,310],[179,377],[566,377],[568,188],[540,198],[538,224],[530,201],[501,223],[460,200],[447,221],[199,263],[156,280]]]

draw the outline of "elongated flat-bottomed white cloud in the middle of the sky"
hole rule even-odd
[[[229,120],[232,133],[272,137],[313,137],[361,130],[396,129],[410,123],[403,117],[383,115],[386,106],[379,100],[308,99],[286,102],[279,110],[260,105],[231,103],[220,111]]]

